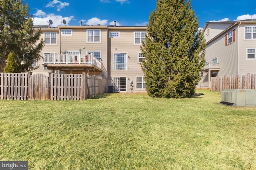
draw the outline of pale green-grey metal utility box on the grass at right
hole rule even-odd
[[[256,90],[224,89],[221,92],[221,103],[232,106],[256,106]]]

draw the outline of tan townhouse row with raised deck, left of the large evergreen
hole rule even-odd
[[[82,73],[107,79],[114,92],[146,92],[140,47],[146,26],[35,26],[41,29],[42,59],[32,74]]]

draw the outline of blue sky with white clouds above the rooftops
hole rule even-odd
[[[116,25],[141,26],[156,8],[156,0],[24,0],[28,3],[34,25]],[[208,21],[233,21],[256,18],[252,0],[191,0],[192,9],[204,27]]]

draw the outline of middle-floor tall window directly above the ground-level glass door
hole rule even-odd
[[[114,53],[113,70],[127,70],[127,53]]]

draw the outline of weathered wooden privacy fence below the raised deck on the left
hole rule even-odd
[[[0,73],[1,100],[85,100],[105,92],[106,79],[85,73]]]

